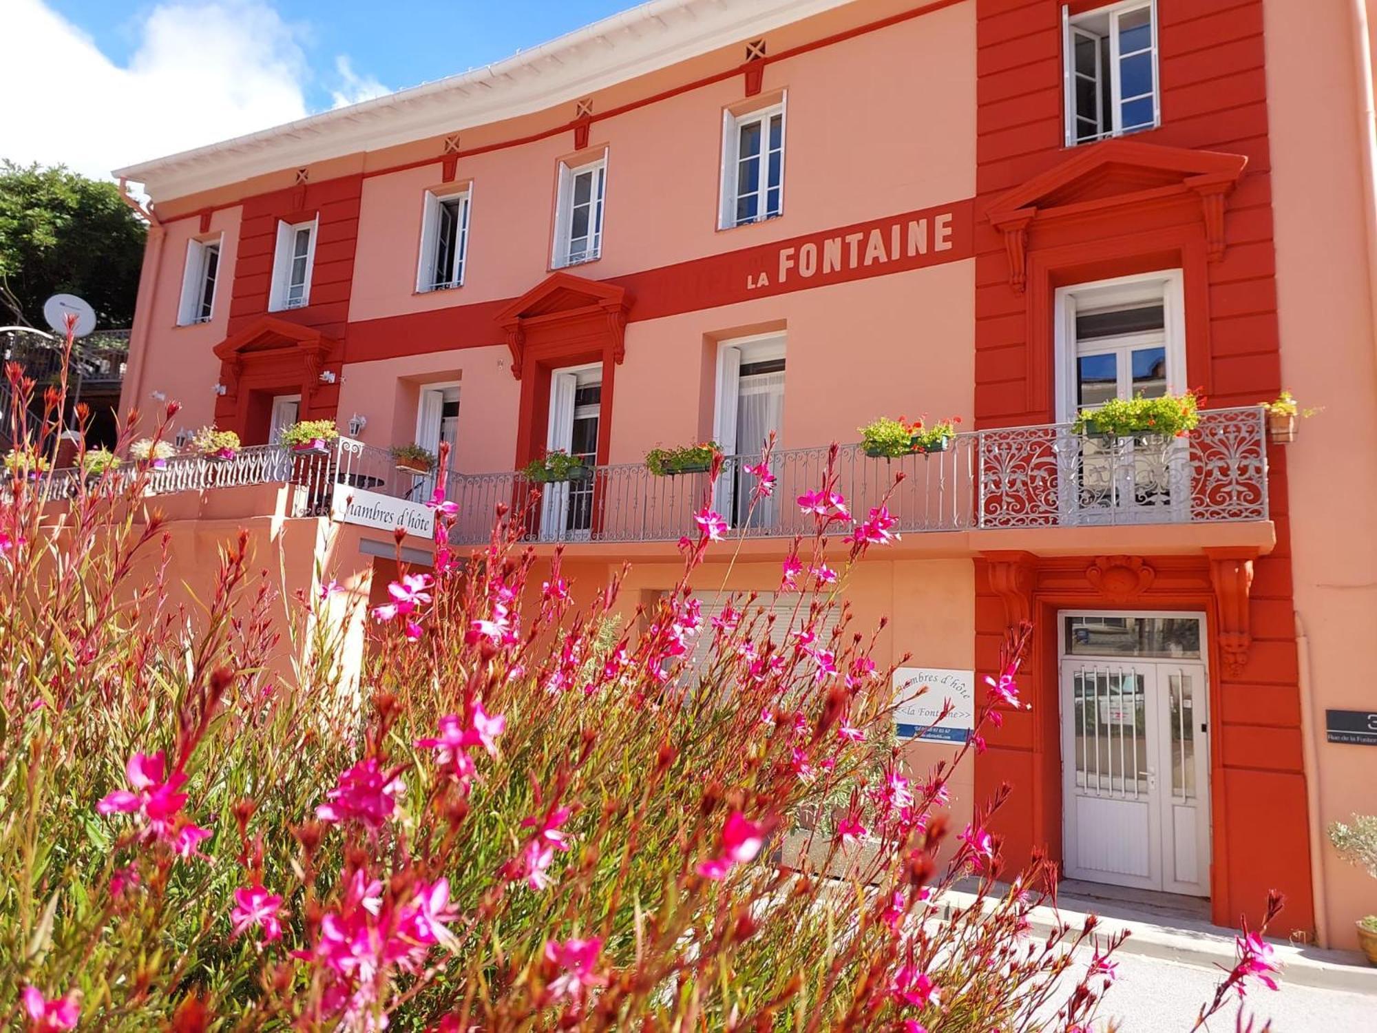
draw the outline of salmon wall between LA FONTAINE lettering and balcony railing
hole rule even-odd
[[[969,426],[972,275],[972,262],[952,262],[632,322],[610,461],[638,463],[657,444],[706,437],[719,342],[777,328],[786,342],[782,448],[858,441],[858,428],[881,415],[960,416]],[[863,361],[845,362],[861,343]]]

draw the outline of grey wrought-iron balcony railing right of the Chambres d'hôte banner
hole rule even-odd
[[[828,449],[771,456],[771,499],[750,508],[759,456],[728,456],[720,483],[708,474],[655,477],[643,464],[606,466],[587,481],[536,485],[521,472],[452,474],[454,544],[487,539],[504,504],[523,514],[527,541],[675,541],[709,503],[749,537],[811,534],[795,499],[818,488]],[[873,459],[839,449],[837,490],[863,515],[888,497],[901,533],[997,528],[1212,523],[1267,518],[1267,420],[1261,408],[1213,409],[1183,438],[1099,438],[1071,424],[956,435],[946,452]],[[541,497],[530,501],[532,492]],[[839,525],[839,530],[845,525]]]

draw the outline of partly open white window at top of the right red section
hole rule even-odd
[[[1062,8],[1066,146],[1161,124],[1153,0],[1070,17]]]

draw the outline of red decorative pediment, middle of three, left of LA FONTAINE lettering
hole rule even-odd
[[[605,329],[613,359],[627,357],[625,329],[631,298],[627,288],[571,273],[551,273],[545,280],[497,313],[512,353],[512,376],[521,380],[533,335],[560,335],[574,326]]]

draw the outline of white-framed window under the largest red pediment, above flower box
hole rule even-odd
[[[1059,288],[1056,310],[1058,420],[1186,390],[1180,270]]]

